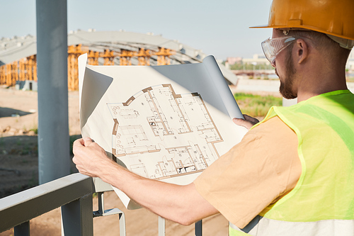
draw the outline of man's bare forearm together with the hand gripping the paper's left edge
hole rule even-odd
[[[217,213],[196,191],[194,184],[179,186],[146,179],[108,159],[89,137],[74,142],[73,162],[81,174],[100,177],[157,215],[183,225]]]

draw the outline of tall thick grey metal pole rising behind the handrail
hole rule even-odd
[[[40,184],[70,174],[67,0],[36,0]]]

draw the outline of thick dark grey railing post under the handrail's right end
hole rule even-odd
[[[92,194],[62,206],[62,236],[93,236]]]

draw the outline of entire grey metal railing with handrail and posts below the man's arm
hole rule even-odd
[[[125,236],[125,215],[118,209],[104,209],[103,192],[112,191],[101,179],[71,174],[32,189],[0,199],[0,232],[14,227],[15,236],[30,235],[30,220],[62,208],[62,235],[93,236],[93,217],[119,216],[120,235]],[[92,194],[98,193],[98,210],[93,211]],[[165,220],[159,217],[159,236],[165,235]],[[195,235],[202,235],[202,221],[195,223]]]

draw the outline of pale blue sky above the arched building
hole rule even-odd
[[[217,59],[262,53],[271,0],[67,0],[69,30],[152,32]],[[0,0],[0,38],[35,35],[35,0]]]

